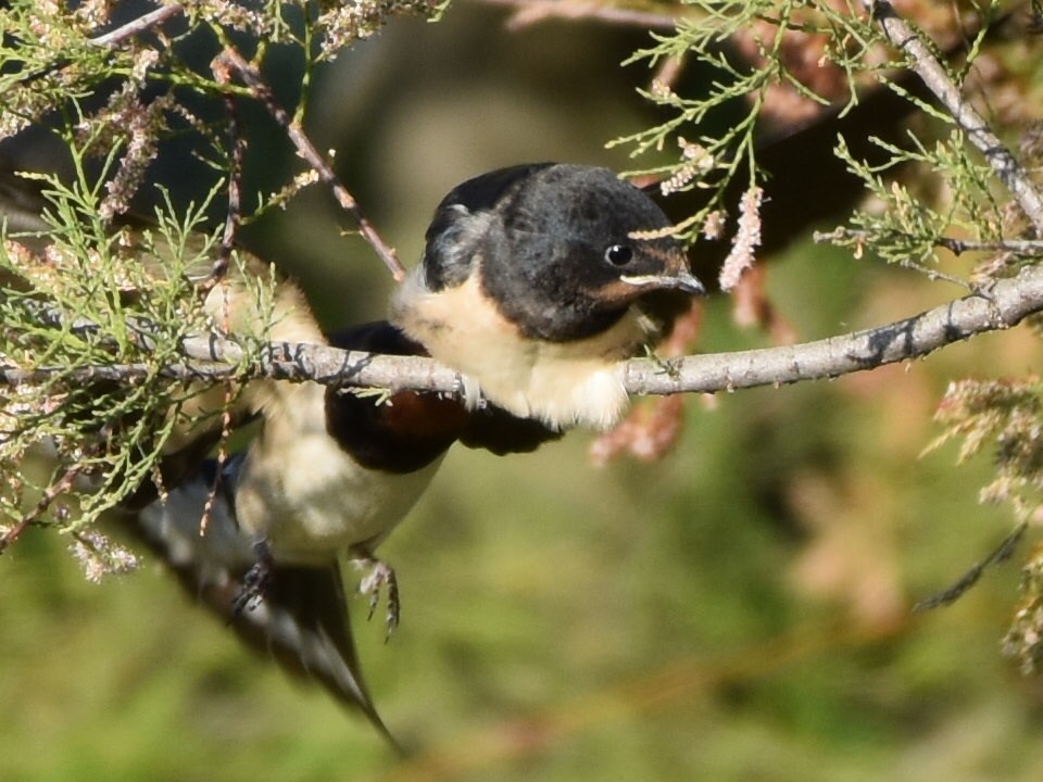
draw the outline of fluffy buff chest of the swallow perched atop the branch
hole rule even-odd
[[[587,339],[526,339],[482,294],[477,275],[437,292],[411,277],[392,302],[391,320],[464,376],[469,400],[480,389],[508,413],[556,428],[607,429],[619,419],[628,400],[617,364],[646,342],[650,331],[631,307]]]

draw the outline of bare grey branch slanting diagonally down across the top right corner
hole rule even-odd
[[[899,16],[887,0],[863,0],[883,34],[897,49],[912,58],[912,68],[984,155],[1000,180],[1010,190],[1038,236],[1043,237],[1043,195],[1011,152],[1003,146],[982,116],[960,93],[930,47]]]

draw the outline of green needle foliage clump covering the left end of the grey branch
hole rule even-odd
[[[0,514],[78,532],[151,479],[194,393],[168,368],[187,336],[215,327],[196,282],[216,240],[201,232],[205,205],[167,204],[148,228],[106,224],[104,177],[89,180],[83,149],[68,149],[77,180],[39,177],[43,226],[0,249],[0,363],[25,378],[0,395]],[[48,465],[37,480],[34,455]],[[90,491],[53,502],[74,487]]]

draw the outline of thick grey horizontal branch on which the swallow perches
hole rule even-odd
[[[928,310],[904,320],[816,342],[738,353],[684,356],[669,361],[633,358],[619,364],[619,378],[631,394],[715,393],[758,386],[780,386],[837,378],[920,358],[940,348],[978,333],[1007,329],[1043,311],[1043,266],[1027,266],[1015,277]],[[186,339],[187,362],[161,371],[179,380],[233,377],[244,350],[214,335]],[[61,367],[24,370],[0,367],[0,382],[41,382],[67,373]],[[120,380],[154,373],[147,364],[81,367],[73,379]],[[273,342],[248,371],[248,377],[291,381],[313,380],[327,386],[438,391],[457,394],[454,370],[430,358],[343,351],[326,345]]]

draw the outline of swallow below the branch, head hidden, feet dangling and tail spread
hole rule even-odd
[[[419,352],[387,324],[329,343]],[[427,487],[464,430],[466,411],[438,394],[403,392],[378,404],[314,382],[275,383],[261,409],[261,431],[243,452],[221,469],[209,459],[181,476],[163,499],[131,514],[135,531],[243,641],[317,680],[391,740],[359,668],[342,569],[353,560],[381,565],[373,550]],[[263,589],[243,607],[259,551]]]

